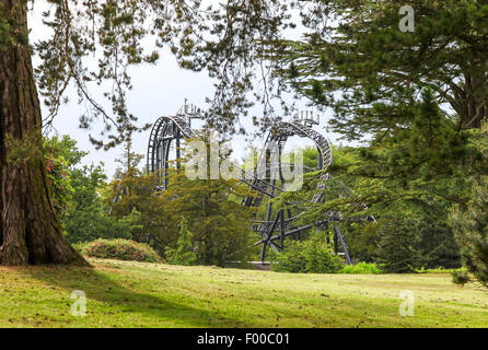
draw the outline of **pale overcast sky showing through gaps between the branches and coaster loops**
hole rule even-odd
[[[42,24],[40,12],[43,10],[43,1],[35,1],[34,11],[30,15],[31,42],[35,43],[37,39],[49,35],[48,30]],[[295,34],[297,37],[300,34]],[[34,59],[34,65],[36,63]],[[139,117],[140,125],[147,122],[154,122],[160,116],[174,115],[184,104],[185,98],[188,98],[193,104],[205,108],[205,97],[211,96],[213,92],[212,80],[207,72],[191,72],[183,70],[176,63],[175,58],[169,51],[164,51],[156,66],[140,66],[131,69],[133,90],[128,93],[128,106],[132,114]],[[94,97],[96,95],[92,92]],[[121,148],[115,148],[109,151],[96,151],[89,140],[89,133],[97,135],[96,126],[92,130],[80,129],[79,117],[84,112],[83,105],[78,105],[78,95],[73,89],[67,92],[70,103],[61,106],[59,115],[54,122],[54,126],[59,135],[69,135],[78,141],[78,145],[82,150],[90,151],[83,162],[85,164],[104,162],[106,173],[113,176],[116,170],[117,158],[120,158]],[[102,100],[102,98],[100,98]],[[303,105],[305,101],[303,101]],[[260,106],[256,106],[255,113],[257,115]],[[43,115],[46,110],[43,109]],[[336,143],[337,136],[327,133],[324,130],[326,126],[327,116],[321,117],[321,126],[315,127],[324,136],[328,137],[333,143]],[[244,121],[252,131],[251,122]],[[150,130],[137,133],[133,140],[135,151],[146,155],[148,139]],[[287,148],[297,145],[310,145],[309,140],[300,140],[293,138],[290,140]],[[233,140],[234,156],[240,159],[244,155],[244,139],[236,137]],[[143,161],[144,165],[146,161]]]

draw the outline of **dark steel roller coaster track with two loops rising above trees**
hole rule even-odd
[[[147,170],[149,173],[158,174],[160,179],[158,190],[160,191],[166,190],[171,185],[167,179],[170,163],[173,161],[171,155],[174,153],[175,160],[179,160],[182,141],[196,138],[196,132],[191,128],[194,119],[204,119],[204,114],[196,106],[185,102],[176,115],[160,117],[153,125],[148,144]],[[236,167],[242,174],[240,180],[254,189],[256,194],[246,197],[242,205],[254,207],[257,212],[262,212],[260,215],[255,215],[249,225],[259,237],[253,246],[262,246],[260,260],[263,262],[266,260],[268,248],[277,254],[284,249],[286,238],[300,240],[303,233],[314,228],[323,231],[332,228],[336,254],[342,255],[347,264],[352,264],[348,246],[338,226],[340,219],[338,212],[326,213],[321,221],[313,224],[301,224],[303,211],[293,212],[297,209],[292,209],[323,201],[325,189],[329,187],[332,176],[327,171],[333,164],[332,144],[327,138],[313,130],[315,125],[318,125],[318,116],[311,112],[297,113],[289,121],[277,121],[268,133],[256,167],[253,171]],[[281,162],[284,145],[291,137],[310,139],[314,142],[318,152],[317,165],[315,168],[303,168],[303,171],[317,172],[318,184],[313,197],[304,199],[301,206],[284,203],[283,208],[278,208],[277,202],[271,199],[287,191],[283,167],[297,166]],[[271,162],[272,159],[278,161]],[[181,166],[179,163],[176,164]],[[341,188],[341,191],[347,194],[345,188]]]

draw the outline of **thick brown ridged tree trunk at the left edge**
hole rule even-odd
[[[26,1],[0,0],[0,18],[9,20],[14,38],[0,48],[0,265],[88,265],[61,233],[44,159],[34,149],[42,144],[42,117],[31,51],[22,39]]]

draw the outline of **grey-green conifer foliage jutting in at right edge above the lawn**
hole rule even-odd
[[[488,287],[488,176],[476,178],[466,207],[451,215],[463,262],[475,279]]]

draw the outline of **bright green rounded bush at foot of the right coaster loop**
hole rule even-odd
[[[342,260],[322,235],[305,242],[290,242],[276,257],[276,264],[271,264],[274,271],[294,273],[337,273],[342,267]]]

